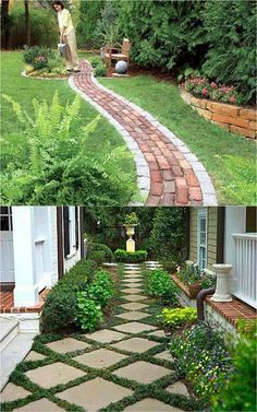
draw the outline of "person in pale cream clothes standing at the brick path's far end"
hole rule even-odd
[[[52,2],[52,8],[58,13],[61,43],[66,45],[66,70],[78,72],[79,61],[76,51],[76,35],[71,13],[65,9],[63,2],[59,0]]]

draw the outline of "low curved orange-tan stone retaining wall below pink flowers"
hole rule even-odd
[[[206,119],[223,127],[231,133],[256,139],[256,110],[242,106],[218,103],[207,98],[196,98],[183,87],[180,87],[180,92],[183,101],[193,106],[200,116],[204,116]]]

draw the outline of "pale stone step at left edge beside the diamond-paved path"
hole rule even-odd
[[[1,378],[0,390],[4,388],[9,376],[15,369],[16,365],[24,360],[32,349],[33,340],[37,336],[35,332],[20,332],[16,337],[1,351]]]

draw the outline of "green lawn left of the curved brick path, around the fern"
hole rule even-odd
[[[79,54],[81,57],[85,54]],[[37,79],[27,79],[21,75],[23,70],[24,62],[21,51],[7,51],[1,55],[1,80],[2,80],[2,90],[1,94],[7,94],[13,97],[17,103],[22,104],[22,107],[25,108],[28,115],[34,114],[33,98],[37,98],[39,102],[46,99],[48,103],[52,101],[52,97],[58,91],[60,103],[66,105],[68,102],[73,102],[76,95],[75,92],[68,84],[68,80],[37,80]],[[97,115],[97,110],[93,108],[88,103],[82,102],[81,108],[82,119],[85,126],[90,120],[93,120]],[[15,152],[15,132],[20,130],[20,123],[16,119],[12,106],[2,99],[1,107],[2,116],[2,137],[4,140],[9,139],[12,143],[12,151],[10,151],[10,157],[17,155]],[[11,134],[14,133],[14,134]],[[90,150],[99,151],[99,148],[103,146],[103,143],[109,141],[112,149],[117,146],[125,146],[125,143],[122,137],[118,131],[101,117],[100,121],[97,125],[97,128],[94,132],[90,133],[86,145]],[[133,183],[136,183],[136,168],[133,158],[126,161],[121,161],[121,167],[123,170],[130,170],[130,179]],[[135,186],[136,190],[136,186]]]

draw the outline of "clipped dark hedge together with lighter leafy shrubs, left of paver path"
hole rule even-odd
[[[94,261],[83,259],[47,295],[41,329],[54,332],[79,327],[93,331],[103,319],[102,309],[112,296],[110,274],[97,271]]]

